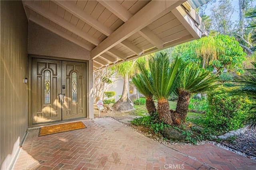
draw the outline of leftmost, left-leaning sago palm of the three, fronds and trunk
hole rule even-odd
[[[139,92],[146,97],[146,107],[147,107],[148,113],[150,115],[152,115],[152,113],[155,113],[156,106],[153,100],[153,94],[146,87],[146,84],[142,78],[142,74],[136,74],[134,77],[132,77],[132,82],[137,87]]]

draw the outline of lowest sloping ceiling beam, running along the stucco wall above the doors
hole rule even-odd
[[[92,49],[93,49],[92,46],[85,44],[82,41],[79,41],[78,39],[76,39],[75,37],[72,37],[71,35],[68,35],[64,31],[61,31],[60,29],[50,25],[49,23],[46,23],[46,22],[40,20],[36,16],[30,15],[29,20],[44,27],[45,29],[48,29],[49,31],[52,31],[53,33],[59,35],[60,37],[67,39],[68,41],[71,41],[71,42],[75,43],[76,45],[79,45],[80,47],[82,47],[86,50],[92,51]]]

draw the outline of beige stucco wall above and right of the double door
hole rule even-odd
[[[88,109],[89,118],[94,118],[92,93],[93,62],[90,60],[90,51],[30,21],[28,23],[28,54],[88,60]]]

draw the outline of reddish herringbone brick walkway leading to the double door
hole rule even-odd
[[[13,169],[256,169],[256,161],[215,145],[167,147],[112,119],[83,123],[43,137],[30,130]]]

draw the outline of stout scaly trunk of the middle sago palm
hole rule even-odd
[[[163,120],[164,123],[172,125],[172,117],[169,108],[169,102],[166,99],[158,100],[157,112],[159,119]]]

